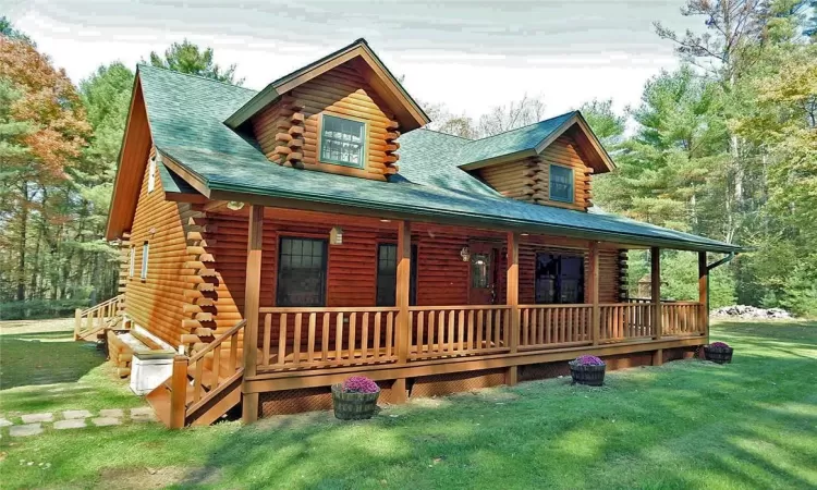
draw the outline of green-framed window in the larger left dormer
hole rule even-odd
[[[320,161],[363,169],[366,123],[324,114],[320,131]]]

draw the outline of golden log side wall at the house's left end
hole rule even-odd
[[[150,151],[153,158],[154,151]],[[125,281],[125,313],[137,324],[164,342],[178,346],[187,330],[182,326],[183,304],[186,303],[183,269],[187,261],[184,226],[180,206],[164,200],[164,191],[158,172],[156,187],[147,192],[149,166],[142,180],[130,243],[134,247],[134,273]],[[142,248],[147,242],[147,278],[142,280]],[[130,264],[123,264],[125,270]]]

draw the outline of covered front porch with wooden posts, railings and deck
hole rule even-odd
[[[280,260],[281,250],[270,250],[269,241],[265,246],[264,207],[248,208],[243,297],[243,342],[247,347],[243,348],[245,421],[258,417],[260,393],[328,387],[352,375],[388,382],[390,400],[400,403],[410,394],[411,380],[423,376],[492,369],[501,370],[503,381],[514,384],[521,366],[563,362],[583,354],[635,353],[648,353],[653,364],[660,364],[663,350],[691,350],[708,340],[706,252],[698,252],[698,301],[660,301],[661,247],[644,242],[571,238],[571,245],[583,245],[573,253],[582,258],[584,291],[574,294],[578,302],[542,304],[531,302],[542,296],[538,272],[532,275],[528,270],[524,281],[520,279],[520,246],[556,243],[570,249],[562,243],[565,238],[522,230],[470,229],[470,236],[477,238],[472,243],[493,245],[496,255],[490,261],[496,277],[489,273],[488,282],[475,277],[478,265],[470,257],[468,274],[453,278],[467,281],[468,301],[463,302],[467,304],[451,305],[444,299],[434,304],[435,294],[424,294],[424,281],[417,280],[412,265],[439,261],[435,254],[440,250],[413,247],[413,232],[415,237],[417,229],[428,233],[428,223],[390,217],[378,221],[380,226],[395,232],[393,304],[376,306],[378,296],[368,304],[361,304],[356,297],[354,303],[358,306],[263,305],[263,291],[269,290],[269,282],[280,274],[263,273],[265,254],[278,254]],[[336,233],[331,220],[325,224]],[[610,278],[603,275],[610,271],[602,273],[600,254],[630,248],[651,250],[651,297],[630,298],[617,291],[615,301],[609,301],[607,291],[608,301],[600,301],[599,293],[611,284]],[[479,252],[478,246],[470,250],[471,255]],[[339,271],[364,267],[353,258],[345,260],[347,267]],[[332,278],[329,272],[328,282],[342,281],[342,273]],[[444,298],[446,292],[440,291],[439,296]],[[276,294],[277,301],[281,297],[280,292]],[[419,305],[417,297],[423,299]],[[324,302],[327,303],[326,297]],[[247,345],[253,340],[257,348]]]

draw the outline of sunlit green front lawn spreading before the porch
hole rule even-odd
[[[732,365],[630,369],[600,389],[521,383],[369,421],[3,433],[0,475],[8,488],[817,487],[817,323],[720,323],[712,340],[735,347]]]

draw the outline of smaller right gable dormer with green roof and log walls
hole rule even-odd
[[[466,145],[460,164],[519,200],[586,211],[593,174],[614,168],[580,112]]]

